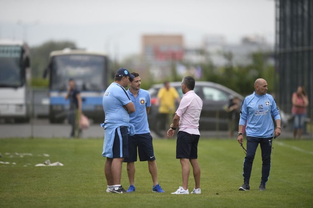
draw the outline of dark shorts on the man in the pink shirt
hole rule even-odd
[[[178,131],[176,142],[176,158],[197,159],[200,135]]]

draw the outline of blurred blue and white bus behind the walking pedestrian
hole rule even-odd
[[[82,111],[96,122],[104,121],[102,97],[108,86],[108,58],[105,54],[85,50],[53,51],[44,77],[50,74],[49,120],[63,122],[68,115],[65,100],[69,78],[73,78],[82,97]]]

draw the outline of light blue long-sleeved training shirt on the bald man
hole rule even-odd
[[[240,111],[239,125],[246,126],[247,136],[258,138],[273,137],[274,123],[280,119],[276,102],[270,94],[258,95],[255,92],[244,98]]]

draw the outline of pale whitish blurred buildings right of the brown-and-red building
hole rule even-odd
[[[187,45],[184,61],[188,63],[211,62],[215,67],[228,64],[245,66],[253,62],[256,52],[273,52],[274,46],[260,35],[245,36],[239,44],[231,44],[223,35],[206,35],[201,45]],[[274,58],[267,60],[274,65]]]

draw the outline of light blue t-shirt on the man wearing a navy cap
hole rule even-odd
[[[131,99],[124,87],[116,82],[110,84],[102,98],[102,106],[105,113],[104,123],[129,123],[129,114],[123,108],[123,105],[130,102]]]

